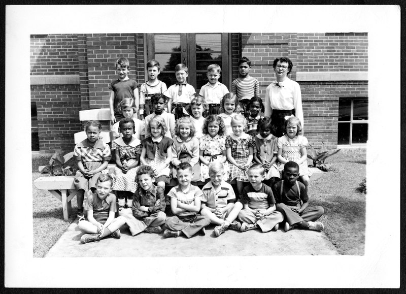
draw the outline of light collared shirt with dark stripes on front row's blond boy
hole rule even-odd
[[[212,182],[208,182],[202,189],[203,194],[200,196],[201,202],[205,202],[210,208],[223,208],[227,206],[228,200],[235,200],[234,190],[231,185],[225,181],[220,183],[217,190],[213,187]]]

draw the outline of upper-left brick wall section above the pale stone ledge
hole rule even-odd
[[[31,75],[79,74],[76,35],[31,35]]]

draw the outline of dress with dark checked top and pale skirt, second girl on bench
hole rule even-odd
[[[122,138],[113,141],[111,145],[112,150],[118,150],[120,153],[121,164],[126,162],[127,166],[132,165],[137,158],[137,154],[141,155],[143,145],[140,140],[132,137],[132,140],[127,145]],[[114,182],[113,190],[135,192],[137,190],[136,176],[138,167],[130,169],[126,174],[118,167],[114,169]]]

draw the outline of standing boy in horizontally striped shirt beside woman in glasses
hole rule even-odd
[[[241,114],[248,117],[247,108],[250,99],[259,97],[259,81],[250,76],[251,61],[247,57],[241,57],[238,61],[239,77],[232,81],[231,92],[237,95],[241,106]]]

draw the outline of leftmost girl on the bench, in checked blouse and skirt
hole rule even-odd
[[[101,124],[96,120],[89,120],[84,126],[87,138],[76,144],[74,157],[77,160],[78,171],[75,176],[75,188],[77,189],[78,219],[84,220],[83,199],[85,191],[96,190],[96,181],[104,171],[111,159],[109,145],[99,139]]]

